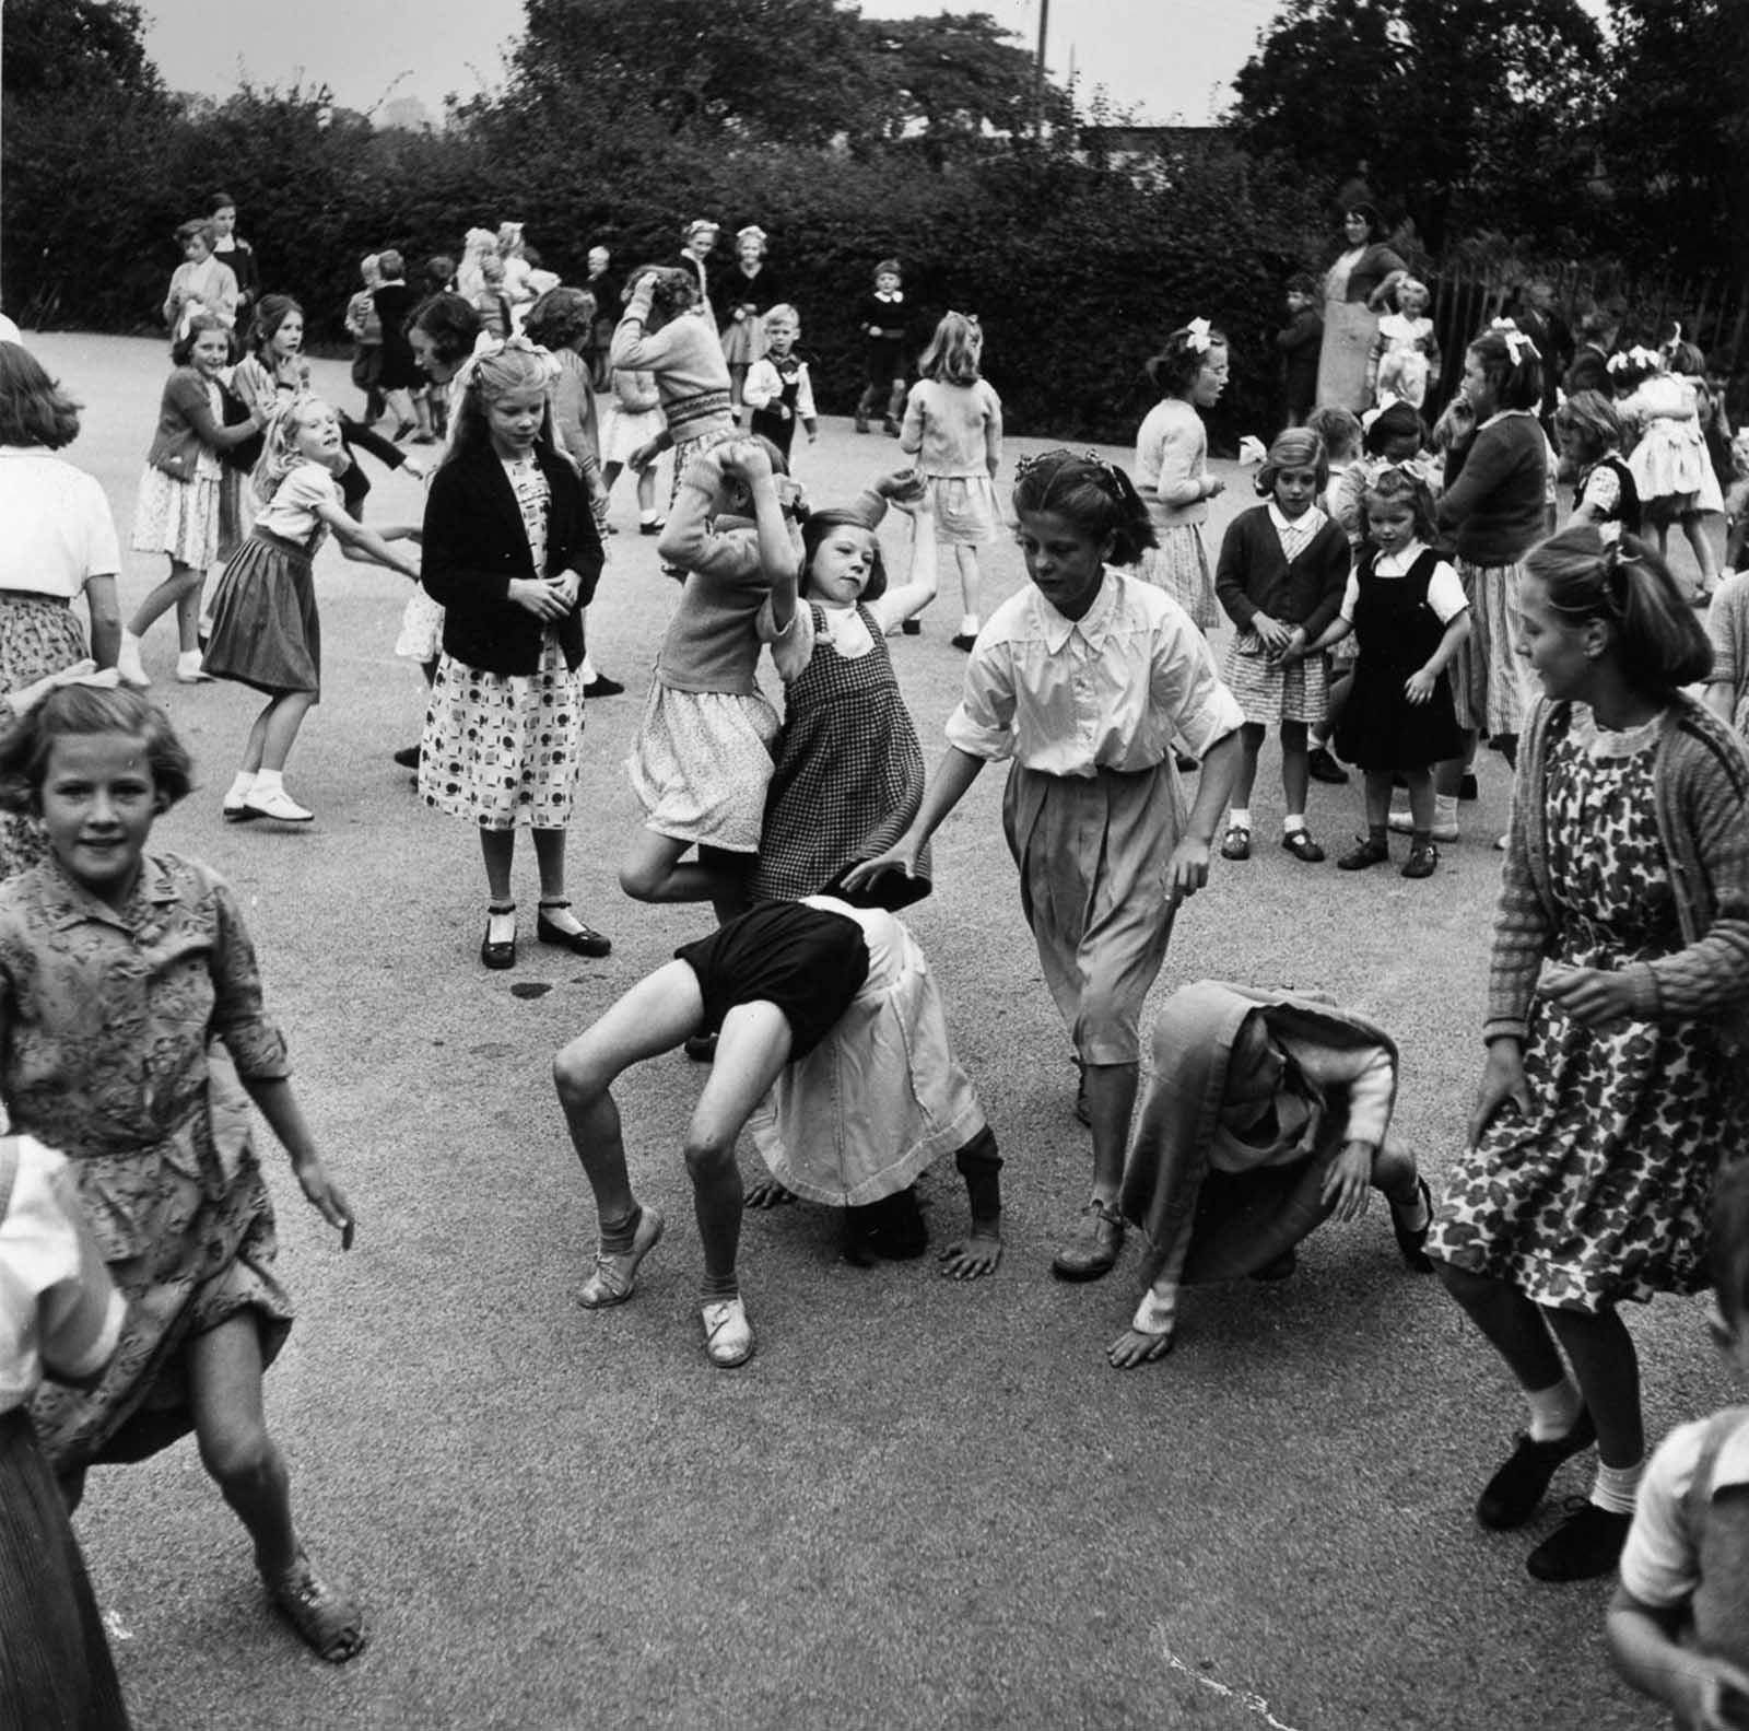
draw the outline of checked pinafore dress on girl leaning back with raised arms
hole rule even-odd
[[[892,847],[923,803],[923,747],[880,621],[857,607],[874,644],[848,658],[833,646],[824,609],[808,609],[813,655],[784,698],[754,875],[759,901],[817,894],[847,866]],[[927,849],[918,877],[927,884]]]

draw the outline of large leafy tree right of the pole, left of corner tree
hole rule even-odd
[[[1571,201],[1602,79],[1578,0],[1287,0],[1233,81],[1233,121],[1331,186],[1366,165],[1438,250],[1460,217]]]

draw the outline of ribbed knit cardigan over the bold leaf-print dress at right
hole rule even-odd
[[[1565,733],[1571,714],[1567,702],[1539,702],[1518,747],[1485,1041],[1525,1040],[1560,921],[1548,877],[1546,770],[1550,740]],[[1655,753],[1658,837],[1683,949],[1627,970],[1635,975],[1637,1008],[1648,1019],[1725,1020],[1742,1047],[1749,1043],[1749,758],[1718,716],[1681,693],[1663,714]]]

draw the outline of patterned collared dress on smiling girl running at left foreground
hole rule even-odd
[[[12,1124],[72,1162],[128,1300],[101,1379],[45,1383],[31,1419],[61,1474],[142,1460],[194,1423],[196,1335],[254,1311],[271,1362],[292,1323],[238,1083],[285,1076],[285,1041],[234,893],[192,859],[147,854],[117,910],[51,856],[0,887],[0,1015]]]

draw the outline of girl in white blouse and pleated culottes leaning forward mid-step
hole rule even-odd
[[[913,875],[923,844],[985,763],[1013,760],[1004,830],[1044,978],[1084,1066],[1093,1195],[1056,1253],[1062,1279],[1118,1260],[1118,1185],[1135,1104],[1137,1024],[1177,905],[1209,879],[1209,847],[1244,746],[1244,711],[1184,609],[1126,571],[1153,539],[1121,469],[1069,452],[1014,483],[1032,579],[990,616],[948,718],[948,754],[906,835],[847,873]],[[1186,816],[1177,730],[1202,760]]]

